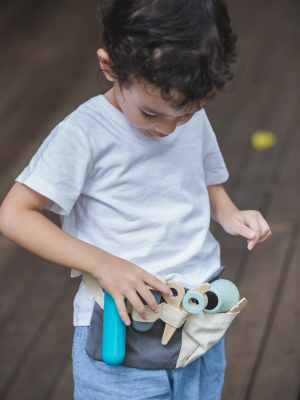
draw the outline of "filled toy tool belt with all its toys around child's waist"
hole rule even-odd
[[[159,313],[152,312],[141,298],[149,319],[145,321],[125,299],[132,323],[122,321],[114,299],[99,282],[85,274],[83,283],[95,297],[86,352],[89,357],[109,365],[125,365],[142,369],[174,369],[190,364],[216,344],[246,306],[237,287],[220,279],[221,267],[207,283],[186,289],[179,282],[166,282],[174,297],[153,293]]]

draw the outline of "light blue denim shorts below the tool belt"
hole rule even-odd
[[[75,400],[219,400],[226,367],[224,336],[184,368],[110,366],[88,357],[89,327],[75,329],[72,348]]]

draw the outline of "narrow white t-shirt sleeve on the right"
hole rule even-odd
[[[229,177],[216,135],[204,110],[203,170],[206,186],[218,185]]]

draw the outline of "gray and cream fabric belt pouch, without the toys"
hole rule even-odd
[[[102,331],[104,292],[97,280],[91,275],[84,274],[83,283],[95,297],[93,314],[90,322],[86,352],[90,358],[102,360]],[[185,289],[187,291],[188,289]],[[202,356],[224,335],[225,331],[236,317],[237,313],[208,314],[200,312],[191,314],[186,311],[174,313],[162,298],[159,304],[160,313],[154,314],[150,307],[143,304],[151,319],[152,328],[145,332],[133,329],[132,324],[126,326],[125,358],[121,365],[141,369],[175,369],[182,368]],[[130,304],[130,303],[129,303]],[[170,313],[168,313],[168,310]],[[128,313],[134,320],[144,321],[130,305]],[[168,314],[172,316],[168,317]],[[170,341],[161,343],[166,322],[176,327]]]

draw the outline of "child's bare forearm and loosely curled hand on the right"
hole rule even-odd
[[[230,200],[223,185],[208,186],[211,217],[231,235],[248,239],[248,249],[271,236],[271,230],[259,211],[240,211]]]

